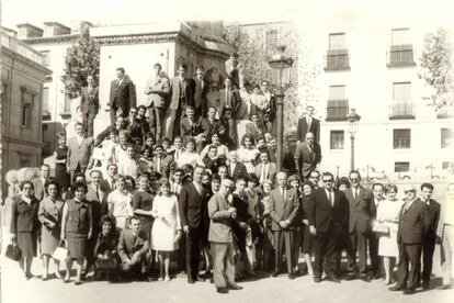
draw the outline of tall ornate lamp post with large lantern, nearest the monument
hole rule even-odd
[[[293,58],[285,55],[285,46],[277,47],[279,53],[271,57],[268,63],[271,68],[271,79],[274,86],[277,87],[276,99],[276,135],[277,135],[277,155],[276,166],[277,171],[282,170],[283,144],[284,144],[284,91],[290,85],[292,75]]]

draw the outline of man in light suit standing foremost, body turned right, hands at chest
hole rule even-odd
[[[231,223],[237,217],[237,210],[228,202],[235,183],[224,179],[220,189],[208,201],[209,231],[208,240],[213,256],[213,278],[218,293],[240,290],[235,283],[235,248]]]

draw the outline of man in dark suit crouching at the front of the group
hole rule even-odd
[[[122,271],[126,278],[145,277],[147,272],[146,254],[149,249],[148,234],[140,229],[140,218],[129,220],[130,229],[125,228],[120,234],[117,245]]]

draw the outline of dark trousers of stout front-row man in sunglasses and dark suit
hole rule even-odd
[[[338,239],[339,233],[334,232],[332,226],[327,232],[317,231],[314,265],[315,277],[321,278],[321,274],[324,273],[324,261],[325,272],[328,276],[336,274]]]

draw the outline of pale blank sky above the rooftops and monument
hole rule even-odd
[[[1,24],[14,30],[20,23],[42,26],[46,21],[71,26],[82,20],[101,25],[182,20],[292,20],[310,26],[319,14],[345,9],[383,16],[409,14],[424,23],[449,26],[454,23],[454,1],[450,0],[1,0]]]

